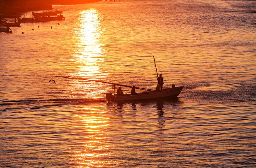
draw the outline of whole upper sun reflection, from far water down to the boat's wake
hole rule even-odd
[[[69,76],[78,76],[90,79],[105,79],[107,72],[101,70],[104,64],[104,48],[101,43],[103,34],[102,20],[100,13],[96,9],[82,10],[77,19],[77,27],[75,29],[74,38],[76,44],[72,62],[76,65],[76,70],[69,73]],[[83,94],[90,98],[102,97],[102,92],[106,92],[101,87],[102,83],[92,83],[88,81],[71,81],[70,90],[77,92],[78,96]],[[103,91],[102,91],[103,90]]]

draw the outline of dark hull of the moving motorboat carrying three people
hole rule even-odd
[[[112,96],[110,101],[136,101],[136,100],[147,100],[147,99],[159,99],[159,98],[174,98],[179,96],[183,86],[163,89],[160,92],[150,91],[145,93],[137,93],[136,95],[126,94],[124,96]],[[109,97],[108,97],[109,99]]]

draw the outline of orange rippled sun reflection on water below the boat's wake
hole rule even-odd
[[[112,164],[110,161],[113,153],[110,151],[111,145],[108,140],[108,120],[104,112],[100,112],[97,107],[84,108],[83,112],[74,115],[80,121],[75,127],[82,131],[82,145],[79,150],[70,151],[73,153],[72,162],[79,168],[83,167],[106,167]]]

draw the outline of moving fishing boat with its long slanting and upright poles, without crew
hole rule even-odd
[[[154,62],[155,62],[155,57],[154,57]],[[155,64],[155,69],[157,72],[156,64]],[[157,74],[158,76],[158,74]],[[129,86],[129,85],[122,85],[119,83],[110,83],[110,82],[105,82],[105,81],[98,81],[98,80],[91,80],[91,79],[86,79],[86,78],[76,78],[72,76],[56,76],[56,77],[61,77],[61,78],[72,78],[72,79],[79,79],[79,80],[85,80],[85,81],[92,81],[92,82],[99,82],[99,83],[107,83],[112,85],[112,88],[116,88],[116,86],[123,86],[123,87],[130,87],[130,88],[135,88],[139,90],[144,90],[143,92],[140,93],[135,93],[135,94],[124,94],[121,96],[117,96],[117,94],[112,94],[111,92],[106,93],[106,99],[108,102],[112,101],[139,101],[139,100],[148,100],[148,99],[161,99],[161,98],[175,98],[179,96],[180,92],[183,89],[183,86],[175,87],[175,85],[172,85],[170,88],[166,89],[158,89],[158,86],[156,87],[156,90],[153,89],[147,89],[147,88],[141,88],[141,87],[135,87],[135,86]]]

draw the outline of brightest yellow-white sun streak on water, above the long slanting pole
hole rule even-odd
[[[79,39],[76,44],[76,61],[80,63],[77,76],[85,76],[90,74],[93,76],[99,73],[99,63],[102,62],[100,20],[99,13],[96,9],[89,9],[80,12],[78,29],[76,38]]]

